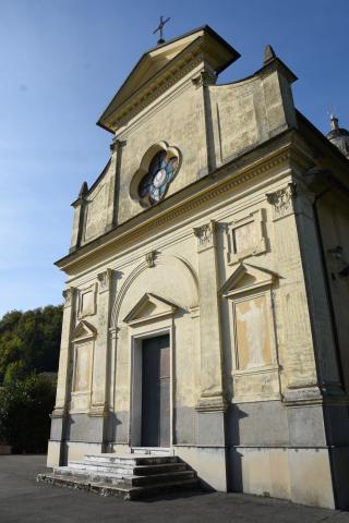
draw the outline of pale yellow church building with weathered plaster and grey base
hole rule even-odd
[[[349,163],[268,46],[208,26],[151,49],[73,203],[48,466],[168,452],[217,490],[349,500]]]

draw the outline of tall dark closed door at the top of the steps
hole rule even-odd
[[[142,447],[170,447],[168,335],[142,342]]]

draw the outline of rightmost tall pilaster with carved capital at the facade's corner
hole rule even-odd
[[[282,311],[280,353],[287,402],[322,403],[318,386],[337,387],[333,335],[324,275],[313,223],[312,195],[290,182],[267,194],[273,207],[275,259],[280,273],[277,303]],[[280,320],[279,320],[280,321]]]

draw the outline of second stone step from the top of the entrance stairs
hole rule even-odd
[[[112,472],[119,474],[129,474],[129,475],[146,475],[146,474],[160,474],[165,472],[180,472],[186,469],[185,463],[158,463],[158,464],[146,464],[146,465],[130,465],[130,464],[118,464],[118,463],[95,463],[93,461],[70,461],[68,463],[70,469],[85,470],[85,471],[97,471],[97,472]]]

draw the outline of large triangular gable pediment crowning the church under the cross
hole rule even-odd
[[[200,50],[196,49],[198,46]],[[193,52],[195,47],[195,52]],[[174,71],[188,68],[201,52],[219,73],[240,54],[210,27],[203,26],[146,51],[133,68],[111,102],[98,120],[98,125],[115,132],[118,120],[154,93]]]

